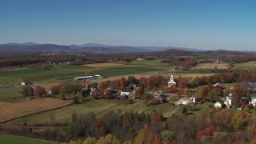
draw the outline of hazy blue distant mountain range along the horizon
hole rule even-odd
[[[194,48],[174,47],[174,46],[107,46],[98,43],[86,43],[83,45],[62,46],[55,44],[39,44],[34,42],[16,43],[10,42],[0,44],[0,53],[133,53],[165,50],[186,50],[205,51]]]

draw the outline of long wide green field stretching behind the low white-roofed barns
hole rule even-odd
[[[50,70],[43,68],[26,68],[21,70],[0,70],[0,85],[18,85],[23,80],[30,80],[34,83],[50,83],[71,81],[77,76],[89,74],[101,74],[106,77],[118,76],[123,74],[142,74],[154,71],[165,71],[161,66],[138,66],[123,65],[109,67],[89,67],[89,66],[70,66],[54,65]]]

